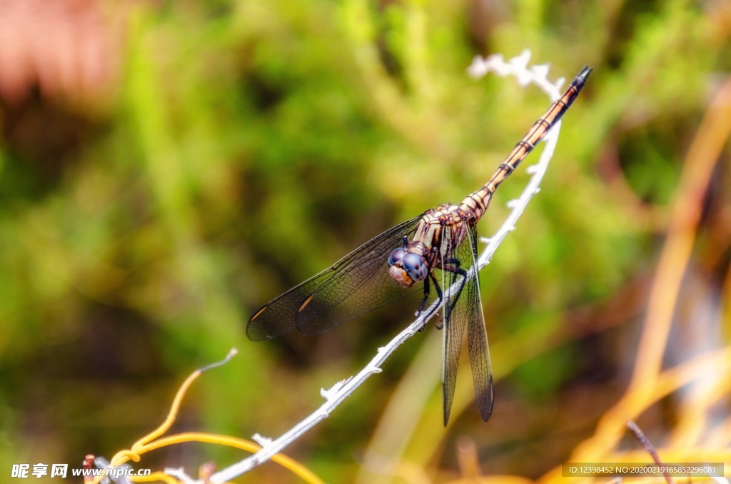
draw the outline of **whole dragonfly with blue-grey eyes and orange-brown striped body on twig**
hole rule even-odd
[[[465,330],[477,409],[486,422],[493,412],[495,391],[477,276],[477,222],[497,187],[564,116],[591,70],[588,66],[581,69],[482,188],[459,205],[445,203],[401,222],[266,303],[249,319],[246,336],[262,341],[291,330],[304,335],[322,333],[418,290],[423,295],[417,311],[420,317],[430,295],[433,298],[433,288],[437,304],[429,306],[434,309],[424,314],[424,321],[444,307],[438,326],[444,330],[444,426],[452,408]]]

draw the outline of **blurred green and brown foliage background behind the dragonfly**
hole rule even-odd
[[[156,427],[278,436],[412,320],[252,343],[246,319],[481,186],[548,100],[469,78],[531,50],[595,70],[482,272],[497,399],[442,427],[428,327],[287,449],[331,483],[561,480],[562,461],[731,461],[731,4],[0,1],[0,472]],[[526,183],[499,189],[490,234]],[[245,453],[173,445],[141,467]],[[731,464],[727,464],[731,466]],[[560,469],[560,468],[559,468]],[[302,482],[266,464],[239,482]],[[578,482],[578,481],[576,481]]]

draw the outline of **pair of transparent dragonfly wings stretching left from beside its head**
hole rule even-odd
[[[421,217],[391,227],[262,306],[249,319],[246,336],[261,341],[295,328],[322,333],[414,292],[416,287],[405,290],[390,280],[388,255],[414,232]]]

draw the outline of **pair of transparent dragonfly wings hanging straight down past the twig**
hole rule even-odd
[[[480,301],[480,278],[477,274],[477,230],[474,223],[465,221],[467,234],[455,250],[460,268],[466,276],[452,272],[450,287],[445,293],[444,306],[444,363],[442,364],[442,393],[444,395],[444,426],[450,417],[457,382],[459,355],[464,330],[467,328],[469,361],[480,417],[487,421],[493,411],[493,374],[490,365],[488,334]],[[461,284],[454,284],[455,282]]]

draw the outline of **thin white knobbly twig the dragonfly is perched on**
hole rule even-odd
[[[497,75],[507,76],[512,75],[518,79],[520,86],[528,86],[529,84],[535,84],[542,89],[548,97],[553,101],[561,97],[561,85],[564,83],[564,79],[558,80],[557,83],[550,83],[546,75],[548,75],[548,65],[532,66],[529,67],[528,63],[530,60],[531,53],[529,50],[524,50],[520,56],[510,59],[510,61],[504,61],[502,56],[489,56],[488,58],[481,58],[480,56],[474,58],[471,66],[467,69],[468,73],[472,77],[482,77],[488,72],[494,72]],[[556,148],[556,141],[558,140],[558,132],[561,129],[560,121],[553,126],[553,129],[545,137],[546,146],[539,157],[537,165],[533,165],[528,168],[531,180],[529,181],[526,189],[523,193],[515,200],[508,203],[511,208],[510,215],[507,216],[505,222],[501,225],[499,230],[495,232],[491,238],[482,239],[486,243],[485,249],[482,250],[479,259],[477,260],[477,270],[480,270],[485,265],[488,265],[496,249],[508,234],[512,230],[515,230],[515,223],[518,222],[520,214],[528,205],[529,200],[539,191],[539,184],[548,168],[548,162],[551,156],[553,156],[553,150]],[[468,278],[474,276],[474,268],[468,274]],[[463,284],[462,281],[458,281],[456,284]],[[450,291],[455,288],[450,289]],[[278,439],[268,441],[257,435],[257,442],[265,444],[261,450],[254,455],[239,461],[237,464],[221,469],[216,474],[211,475],[211,483],[221,483],[227,480],[232,480],[241,474],[248,472],[254,467],[268,461],[273,455],[280,453],[284,450],[284,447],[294,442],[301,435],[303,435],[310,428],[314,427],[321,420],[324,420],[330,412],[333,411],[338,405],[344,401],[344,399],[355,391],[357,387],[363,384],[372,374],[380,373],[381,365],[387,360],[387,358],[395,351],[396,348],[404,344],[404,342],[414,336],[421,328],[424,327],[428,319],[430,319],[436,311],[442,306],[441,302],[435,301],[427,309],[425,309],[420,317],[418,317],[408,328],[398,333],[393,340],[390,341],[385,347],[378,349],[378,353],[375,358],[366,365],[363,370],[360,371],[355,377],[351,377],[342,382],[338,382],[333,385],[330,390],[322,390],[322,396],[325,398],[319,409],[312,412],[304,420],[300,421],[297,425],[289,429]]]

